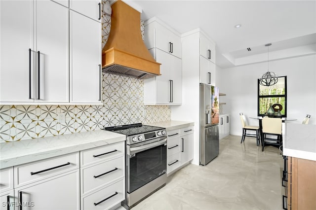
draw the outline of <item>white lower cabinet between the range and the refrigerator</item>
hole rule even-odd
[[[193,160],[193,126],[167,131],[167,175]]]

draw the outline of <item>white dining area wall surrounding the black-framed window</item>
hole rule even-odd
[[[257,79],[268,70],[267,62],[221,69],[216,67],[216,86],[226,96],[220,98],[223,113],[231,115],[231,134],[241,136],[239,112],[257,116]],[[287,117],[291,123],[301,123],[311,114],[310,124],[316,124],[316,55],[269,61],[269,70],[287,76]],[[249,124],[258,125],[255,119]]]

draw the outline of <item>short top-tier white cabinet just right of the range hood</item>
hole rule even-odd
[[[182,58],[182,44],[180,35],[164,25],[157,18],[145,22],[144,41],[148,49],[158,48],[166,53]]]

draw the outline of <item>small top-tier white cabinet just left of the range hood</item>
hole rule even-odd
[[[70,9],[101,22],[102,4],[100,0],[70,0],[69,3]]]

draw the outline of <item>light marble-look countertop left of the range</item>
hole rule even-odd
[[[0,169],[124,140],[125,135],[96,130],[0,143]]]

